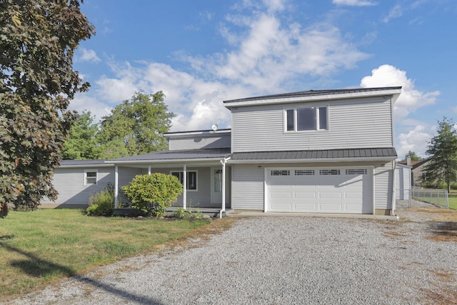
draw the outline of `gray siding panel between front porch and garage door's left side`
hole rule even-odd
[[[233,164],[231,173],[231,207],[263,211],[263,167]]]

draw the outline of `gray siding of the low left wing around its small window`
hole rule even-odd
[[[97,170],[97,184],[84,185],[84,170]],[[109,183],[114,185],[114,167],[55,169],[52,183],[59,192],[56,201],[47,197],[41,204],[89,204],[89,199]]]

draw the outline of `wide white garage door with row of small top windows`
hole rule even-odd
[[[369,169],[267,169],[267,209],[372,214]]]

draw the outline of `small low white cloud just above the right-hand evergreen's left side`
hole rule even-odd
[[[408,131],[407,134],[399,134],[397,139],[397,154],[399,159],[408,154],[408,151],[414,151],[418,156],[425,157],[425,151],[432,134],[426,132],[426,126],[419,124]]]

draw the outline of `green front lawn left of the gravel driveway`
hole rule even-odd
[[[90,217],[75,209],[11,211],[0,219],[0,296],[152,250],[210,222]]]

